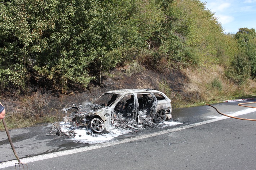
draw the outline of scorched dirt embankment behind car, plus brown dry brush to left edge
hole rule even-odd
[[[90,84],[87,91],[78,92],[76,89],[61,95],[53,95],[50,91],[44,94],[40,91],[30,96],[1,96],[1,102],[6,108],[7,115],[24,115],[27,118],[45,114],[58,114],[59,119],[63,108],[91,101],[103,92],[115,89],[150,88],[163,91],[173,102],[175,100],[190,101],[200,98],[199,93],[191,91],[191,84],[185,74],[169,72],[159,74],[152,70],[133,64],[114,69],[110,74],[102,76],[102,85]],[[173,104],[173,103],[172,103]],[[175,105],[173,105],[175,107]],[[63,115],[64,116],[64,115]]]

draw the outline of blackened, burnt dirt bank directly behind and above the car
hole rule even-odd
[[[91,85],[87,91],[82,93],[74,91],[74,94],[72,91],[72,95],[62,95],[59,98],[62,98],[61,105],[63,107],[69,107],[71,104],[90,101],[106,91],[132,88],[149,88],[162,91],[173,102],[175,99],[191,102],[200,98],[198,89],[190,83],[189,78],[184,73],[160,74],[139,65],[116,68],[109,75],[103,76],[101,86]]]

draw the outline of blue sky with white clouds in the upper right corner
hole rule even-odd
[[[256,29],[256,0],[201,0],[215,13],[224,33],[236,33],[239,28]]]

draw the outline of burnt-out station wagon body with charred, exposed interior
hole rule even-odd
[[[71,111],[72,109],[75,109]],[[88,103],[64,109],[63,121],[86,126],[93,132],[146,122],[163,123],[172,118],[171,100],[152,89],[121,89],[105,92]],[[67,111],[71,114],[67,116]]]

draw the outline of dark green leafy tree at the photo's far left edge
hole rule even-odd
[[[54,27],[52,6],[52,0],[0,1],[1,88],[26,89],[37,55],[47,48],[43,35]]]

